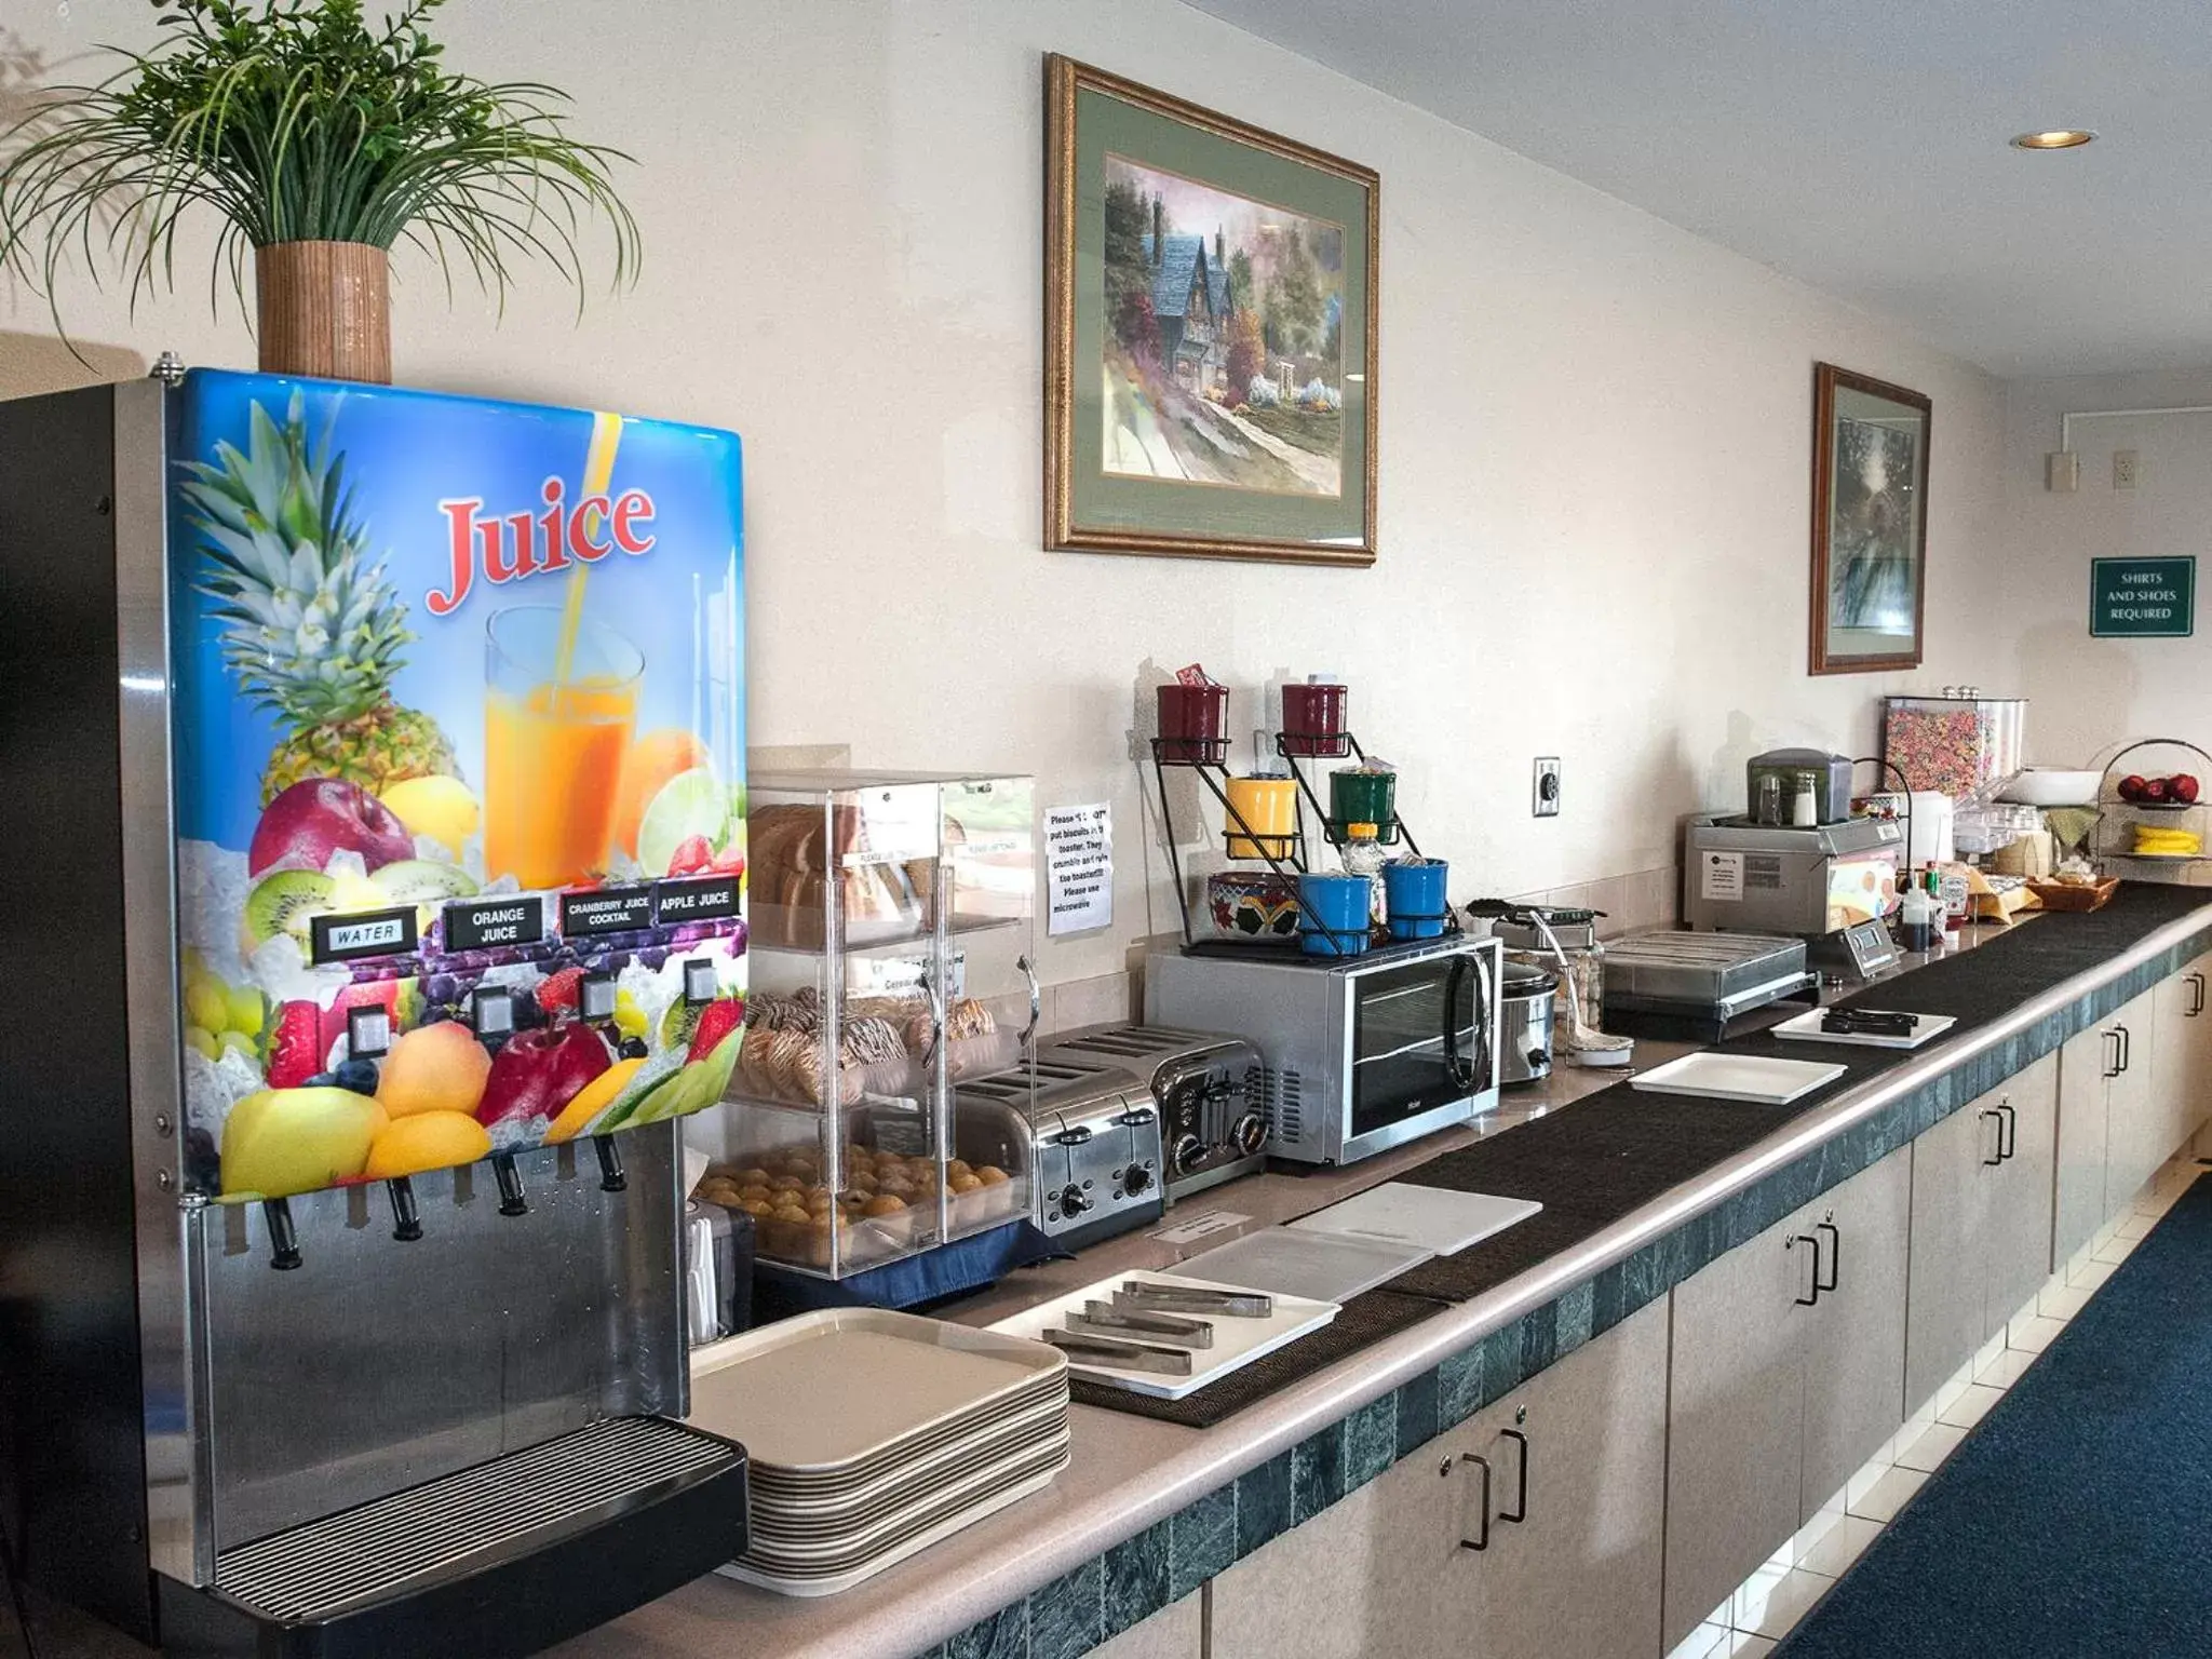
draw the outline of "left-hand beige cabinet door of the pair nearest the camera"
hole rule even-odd
[[[1482,1579],[1460,1548],[1473,1526],[1464,1449],[1438,1436],[1340,1504],[1272,1540],[1210,1586],[1212,1659],[1367,1659],[1464,1652],[1482,1628]],[[1464,1559],[1462,1559],[1464,1557]]]

